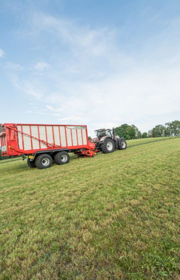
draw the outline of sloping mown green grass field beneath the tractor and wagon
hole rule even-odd
[[[180,138],[127,144],[0,162],[0,279],[180,279]]]

